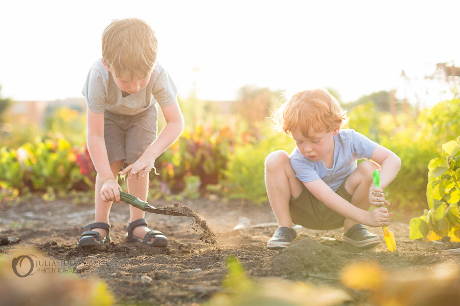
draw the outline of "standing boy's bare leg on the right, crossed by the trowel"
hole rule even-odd
[[[128,173],[128,192],[138,198],[140,198],[143,201],[147,201],[147,192],[149,189],[149,175],[147,174],[144,177],[140,177],[139,180],[136,179],[135,176],[132,177],[132,179],[129,179],[129,173]],[[137,219],[143,219],[145,217],[145,212],[140,210],[139,208],[135,208],[133,206],[129,206],[129,213],[130,213],[130,219],[129,223],[132,221],[135,221]],[[149,228],[146,226],[137,226],[132,230],[132,234],[136,236],[137,238],[144,239],[145,234],[149,232]],[[154,238],[151,238],[150,241],[153,241]]]

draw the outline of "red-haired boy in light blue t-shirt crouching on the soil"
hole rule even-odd
[[[273,118],[296,147],[290,156],[279,150],[265,160],[268,199],[279,225],[267,247],[288,247],[296,238],[292,222],[317,230],[343,226],[342,241],[360,248],[380,243],[363,224],[389,225],[383,189],[401,167],[398,156],[354,130],[340,129],[346,112],[323,88],[298,92]],[[361,158],[366,161],[357,165]],[[378,168],[380,188],[372,180]],[[377,208],[368,211],[371,205]]]

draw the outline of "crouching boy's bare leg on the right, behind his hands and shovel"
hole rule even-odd
[[[371,161],[363,161],[345,182],[345,189],[352,195],[351,203],[365,211],[371,207],[371,203],[369,203],[369,188],[371,188],[373,182],[372,172],[375,169],[379,169],[379,165]],[[343,232],[347,233],[350,227],[355,224],[357,224],[356,221],[346,218],[343,221]]]

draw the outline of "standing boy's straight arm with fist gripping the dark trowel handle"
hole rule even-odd
[[[107,148],[104,139],[104,113],[95,113],[89,109],[86,112],[86,143],[89,155],[101,180],[101,198],[106,201],[120,201],[121,190],[117,180],[113,177],[107,157]]]

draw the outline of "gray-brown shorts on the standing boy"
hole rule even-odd
[[[109,163],[134,163],[156,139],[158,110],[154,104],[137,115],[105,111],[104,138]]]

